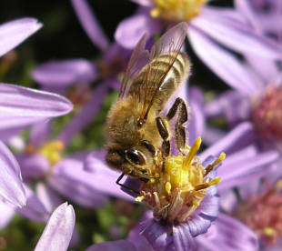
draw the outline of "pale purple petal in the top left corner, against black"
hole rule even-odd
[[[20,18],[0,25],[0,56],[33,35],[42,24],[35,18]]]

